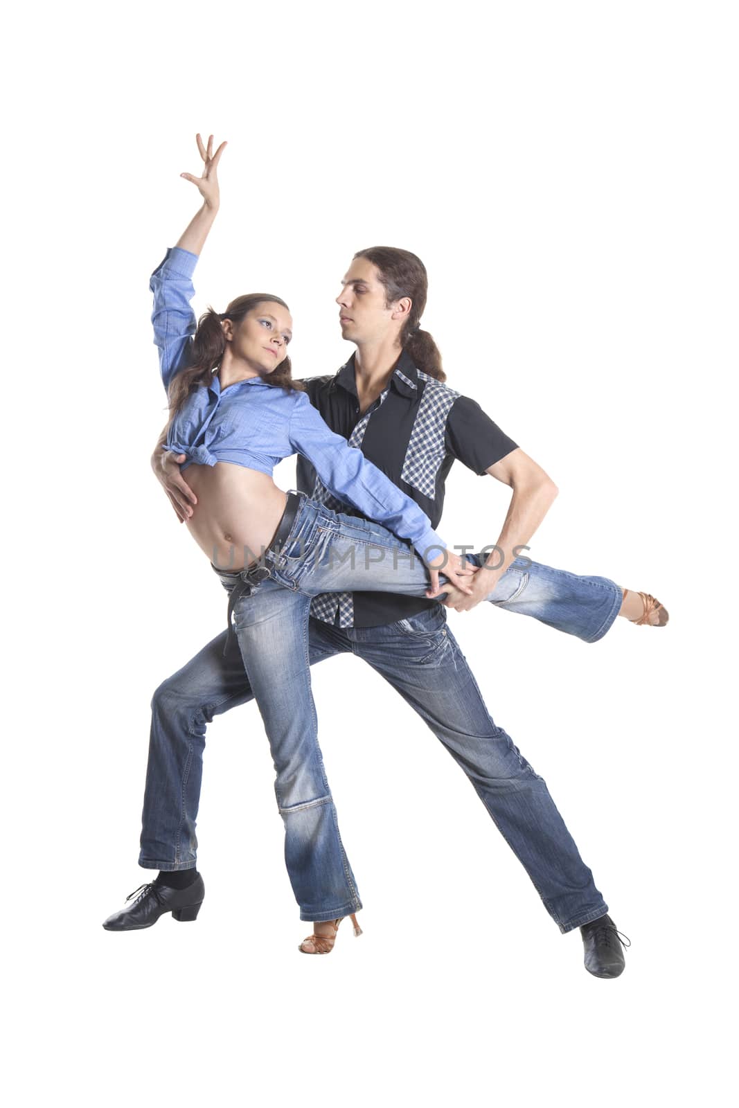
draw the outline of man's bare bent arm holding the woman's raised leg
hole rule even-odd
[[[496,481],[502,481],[513,490],[511,503],[505,514],[503,527],[491,551],[486,563],[474,577],[472,595],[465,596],[458,589],[449,591],[444,604],[456,612],[469,612],[484,601],[503,576],[511,563],[516,558],[514,548],[528,544],[528,540],[540,526],[548,512],[557,486],[533,458],[525,454],[521,448],[512,450],[494,465],[487,466],[487,473]]]

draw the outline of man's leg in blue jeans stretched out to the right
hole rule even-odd
[[[441,605],[383,627],[346,632],[464,770],[560,930],[604,916],[595,888],[543,778],[496,727]]]

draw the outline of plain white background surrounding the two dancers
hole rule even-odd
[[[732,16],[166,2],[7,27],[13,1104],[728,1102]],[[594,646],[489,606],[450,615],[632,940],[618,981],[584,971],[464,776],[346,657],[314,687],[360,942],[345,924],[330,957],[297,953],[253,706],[208,730],[196,925],[100,926],[152,875],[151,694],[225,619],[148,470],[148,274],[197,206],[178,177],[197,130],[229,146],[196,309],[275,291],[296,375],[329,372],[351,352],[333,297],[352,253],[417,252],[449,383],[560,486],[532,556],[670,611]],[[507,495],[456,466],[442,533],[493,542]]]

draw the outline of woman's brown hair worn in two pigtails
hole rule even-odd
[[[223,320],[230,319],[233,324],[240,324],[244,317],[257,305],[267,301],[281,304],[284,308],[287,308],[285,300],[280,299],[279,296],[269,296],[267,293],[249,293],[247,296],[237,296],[224,312],[218,314],[213,308],[203,312],[193,336],[189,366],[177,373],[170,384],[170,421],[179,411],[189,392],[201,384],[207,384],[213,377],[213,371],[220,366],[226,351],[226,337],[220,326]],[[290,359],[285,358],[274,372],[265,376],[264,380],[280,389],[301,391],[302,384],[299,381],[294,381],[291,375]]]

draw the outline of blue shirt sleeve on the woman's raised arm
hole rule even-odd
[[[189,365],[189,348],[197,320],[189,301],[195,295],[193,273],[197,254],[174,246],[152,274],[148,287],[154,294],[154,343],[160,351],[164,388]]]

